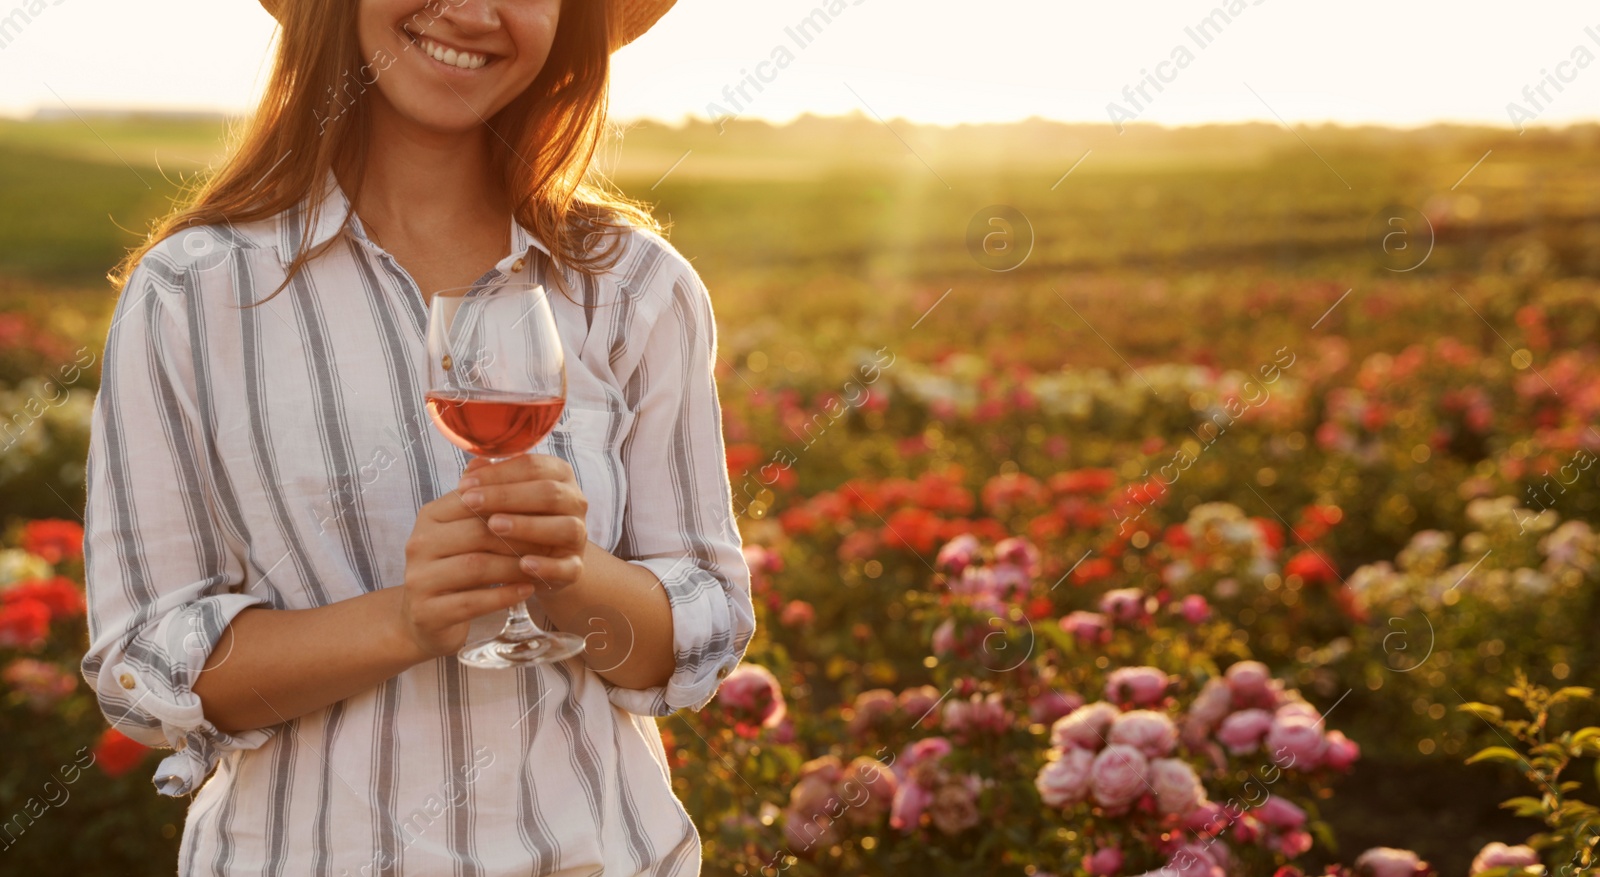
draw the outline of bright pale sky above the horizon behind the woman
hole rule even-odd
[[[818,8],[835,14],[797,38]],[[1214,8],[680,0],[616,54],[611,109],[619,120],[861,110],[939,125],[1045,117],[1517,128],[1600,118],[1594,0],[1224,0],[1237,14],[1200,32]],[[275,30],[253,0],[0,0],[0,22],[21,22],[16,10],[34,14],[0,34],[3,115],[248,112]]]

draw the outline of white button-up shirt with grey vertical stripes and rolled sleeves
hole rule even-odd
[[[304,222],[333,245],[240,307],[278,286]],[[571,299],[549,250],[517,222],[510,237],[485,278],[544,282],[566,352],[566,408],[534,453],[573,466],[590,541],[664,584],[672,679],[446,656],[267,728],[211,725],[192,685],[229,621],[400,584],[418,511],[469,458],[424,406],[421,293],[331,174],[315,214],[179,232],[136,266],[106,342],[83,658],[106,717],[173,749],[160,792],[194,792],[179,874],[698,874],[654,717],[702,707],[755,627],[710,296],[643,229],[606,274],[565,272]]]

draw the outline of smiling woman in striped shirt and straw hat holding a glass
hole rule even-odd
[[[582,184],[608,54],[667,5],[278,0],[250,130],[114,275],[83,674],[194,792],[179,874],[698,872],[653,717],[754,631],[715,325]],[[426,306],[496,272],[562,291],[568,403],[469,464]],[[454,659],[528,599],[587,653]]]

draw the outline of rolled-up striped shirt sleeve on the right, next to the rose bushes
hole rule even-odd
[[[717,323],[706,285],[680,264],[670,285],[645,294],[659,309],[626,386],[635,418],[622,443],[627,501],[618,557],[666,587],[675,655],[664,687],[606,683],[611,703],[642,715],[704,707],[755,634],[714,379]]]

